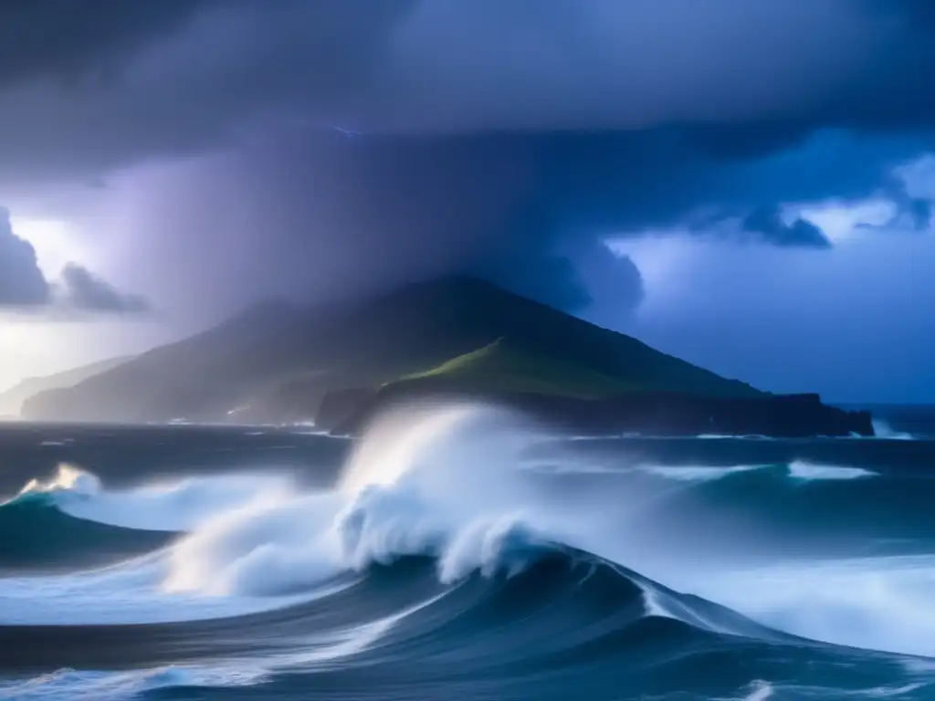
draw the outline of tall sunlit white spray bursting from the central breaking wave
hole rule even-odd
[[[438,557],[445,580],[492,572],[498,553],[514,550],[503,548],[516,538],[502,532],[505,515],[536,502],[515,465],[538,435],[482,406],[392,413],[354,451],[337,490],[274,494],[211,520],[176,546],[165,587],[284,594],[406,555]],[[560,521],[545,513],[514,526],[532,533]]]

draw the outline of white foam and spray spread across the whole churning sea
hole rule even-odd
[[[703,556],[685,558],[673,540],[679,531],[673,524],[682,520],[690,526],[704,518],[706,507],[667,510],[666,500],[656,498],[673,489],[663,482],[718,479],[739,468],[694,473],[680,468],[676,474],[655,467],[649,475],[645,469],[621,469],[612,475],[619,480],[614,489],[601,479],[597,493],[580,493],[563,486],[567,475],[519,468],[528,463],[529,447],[542,438],[535,425],[499,409],[412,409],[375,424],[356,444],[336,488],[318,493],[272,475],[110,493],[88,473],[63,469],[51,483],[34,483],[28,490],[65,497],[62,508],[69,512],[84,508],[89,517],[122,524],[189,525],[182,530],[191,533],[168,551],[108,572],[28,583],[5,580],[0,595],[5,602],[21,601],[22,607],[5,605],[2,618],[86,622],[123,617],[122,622],[132,622],[210,617],[327,595],[346,581],[338,576],[366,576],[371,564],[406,555],[434,557],[439,579],[453,583],[473,572],[515,573],[541,552],[568,546],[780,630],[888,651],[932,653],[935,620],[920,613],[935,610],[930,560],[843,566],[813,559],[744,569],[739,566],[743,549],[755,545],[755,534],[741,538],[751,529],[732,540],[719,538],[719,550],[712,543]],[[873,477],[861,468],[801,462],[788,465],[787,474],[803,482]],[[660,476],[665,479],[653,479]],[[550,490],[556,481],[559,489]],[[133,508],[120,510],[115,505],[120,499]],[[645,517],[639,528],[627,529],[629,514]],[[22,597],[11,598],[11,586],[22,587]],[[655,607],[678,618],[688,615],[672,606],[674,600],[654,594],[661,589],[647,585],[645,591],[650,612]]]

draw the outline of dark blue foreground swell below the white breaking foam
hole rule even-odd
[[[22,629],[0,627],[0,645],[15,635]],[[439,583],[437,564],[407,556],[368,565],[366,576],[351,585],[281,611],[158,628],[50,626],[32,629],[31,637],[36,645],[0,660],[0,671],[34,668],[49,650],[56,664],[77,669],[135,667],[154,654],[169,666],[110,674],[66,670],[28,683],[0,682],[0,695],[108,700],[172,687],[178,697],[224,698],[229,687],[262,684],[252,697],[430,699],[447,691],[466,698],[603,699],[620,697],[620,684],[664,690],[680,680],[675,688],[726,699],[769,687],[751,684],[749,675],[771,671],[775,679],[778,659],[807,666],[789,688],[791,698],[828,698],[828,686],[849,698],[896,695],[890,694],[895,687],[885,686],[892,659],[865,654],[859,679],[841,680],[850,662],[841,651],[784,636],[554,544],[518,570],[473,572],[448,586]],[[95,657],[99,650],[107,657]],[[739,651],[744,664],[731,664]],[[774,683],[770,688],[785,697],[784,685]],[[209,695],[206,687],[228,692]]]

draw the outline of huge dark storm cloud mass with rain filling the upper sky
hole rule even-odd
[[[226,150],[146,223],[164,277],[169,256],[223,265],[252,237],[229,266],[257,289],[468,269],[577,307],[594,293],[576,261],[602,236],[733,217],[822,247],[762,213],[873,193],[935,115],[935,24],[916,2],[145,5],[162,14],[122,4],[106,41],[106,22],[79,23],[61,50],[17,54],[0,183]]]

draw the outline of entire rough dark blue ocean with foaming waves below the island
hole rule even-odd
[[[935,699],[935,412],[888,419],[11,424],[0,698]]]

